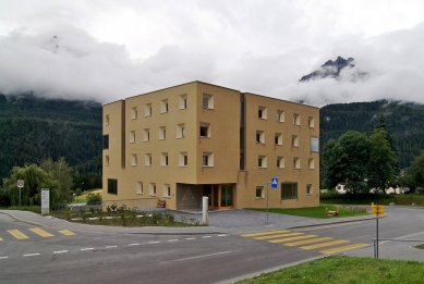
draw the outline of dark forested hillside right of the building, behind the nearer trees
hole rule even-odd
[[[387,128],[398,150],[400,169],[424,150],[424,106],[399,101],[372,101],[328,104],[320,109],[320,147],[338,139],[347,131],[370,135],[378,115],[386,118]]]

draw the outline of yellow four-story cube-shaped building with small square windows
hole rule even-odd
[[[318,206],[318,108],[202,82],[107,103],[104,207]]]

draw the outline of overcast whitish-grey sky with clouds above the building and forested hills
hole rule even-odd
[[[317,107],[424,103],[423,44],[422,0],[0,0],[0,92],[107,103],[203,81]],[[341,79],[298,82],[339,55],[356,66]]]

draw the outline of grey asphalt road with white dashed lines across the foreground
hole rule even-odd
[[[380,238],[424,239],[423,210],[386,208],[386,213],[388,217],[379,220]],[[27,238],[17,239],[11,230],[17,230]],[[324,257],[323,251],[334,248],[306,249],[320,243],[293,246],[289,244],[295,242],[271,243],[278,239],[330,238],[329,242],[341,242],[336,247],[363,247],[330,254],[367,251],[372,256],[371,239],[376,234],[376,222],[298,227],[272,232],[274,236],[267,230],[267,226],[257,227],[258,235],[246,232],[144,235],[85,231],[64,234],[0,214],[0,283],[229,283],[243,275]],[[284,237],[276,238],[278,234]],[[390,246],[383,251],[381,248],[380,254],[390,254]]]

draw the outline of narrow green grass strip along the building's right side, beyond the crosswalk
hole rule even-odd
[[[339,215],[331,217],[326,214],[326,208],[329,211],[336,211],[337,207],[332,205],[320,205],[319,207],[310,207],[310,208],[293,208],[293,209],[280,209],[280,208],[269,208],[268,212],[278,213],[278,214],[287,214],[287,215],[300,215],[300,217],[310,217],[310,218],[318,218],[318,219],[328,219],[328,218],[343,218],[343,217],[356,217],[356,215],[368,215],[370,213],[361,212],[358,210],[353,210],[355,207],[346,206],[339,208]],[[251,209],[255,211],[266,212],[266,209]]]

